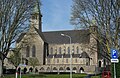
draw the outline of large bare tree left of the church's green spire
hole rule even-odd
[[[28,19],[38,0],[0,0],[0,76],[3,61],[18,36],[29,28]]]

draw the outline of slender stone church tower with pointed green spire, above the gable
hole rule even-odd
[[[30,19],[30,25],[31,27],[35,27],[38,29],[40,32],[42,32],[42,15],[40,11],[40,6],[38,3],[36,3],[32,14],[31,14],[31,19]]]

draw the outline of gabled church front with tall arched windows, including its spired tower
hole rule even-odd
[[[40,35],[42,32],[41,19],[40,6],[36,3],[30,17],[29,31],[23,38],[23,41],[26,40],[26,43],[24,43],[24,57],[27,58],[27,60],[31,57],[36,58],[39,61],[39,65],[43,65],[44,62],[44,40]]]

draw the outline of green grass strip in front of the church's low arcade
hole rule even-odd
[[[86,74],[73,74],[73,78],[84,78]],[[15,75],[5,75],[3,78],[15,78]],[[18,77],[20,78],[20,77]],[[39,75],[22,75],[22,78],[69,78],[69,74],[39,74]],[[95,77],[97,78],[97,77]]]

